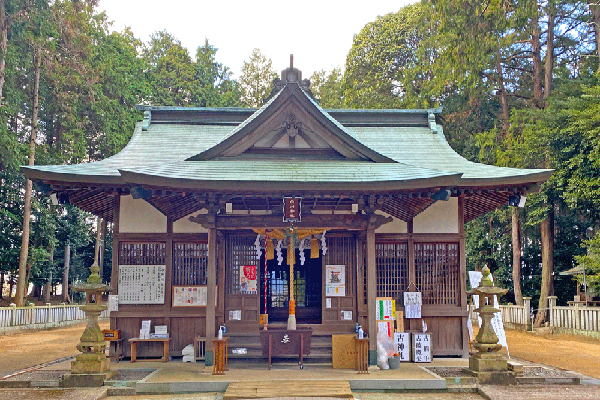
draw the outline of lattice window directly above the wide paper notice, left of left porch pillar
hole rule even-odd
[[[206,285],[208,245],[173,243],[173,285]]]

